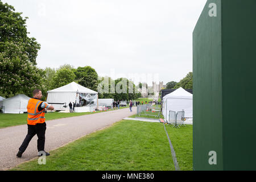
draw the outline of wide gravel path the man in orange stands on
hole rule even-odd
[[[55,150],[73,140],[110,126],[114,122],[121,121],[123,118],[133,114],[136,114],[136,107],[133,107],[132,112],[130,112],[129,108],[125,108],[104,113],[46,121],[46,144],[44,149],[47,152]],[[33,159],[38,155],[38,137],[35,135],[26,151],[23,153],[22,158],[16,157],[18,148],[26,135],[27,125],[0,129],[0,170],[12,168],[22,162]]]

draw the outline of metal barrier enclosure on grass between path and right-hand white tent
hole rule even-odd
[[[152,116],[155,118],[159,118],[160,110],[161,110],[160,107],[151,105],[151,104],[144,104],[144,105],[137,106],[138,115]]]

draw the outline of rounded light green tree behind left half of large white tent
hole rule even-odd
[[[52,88],[59,88],[75,81],[75,73],[71,69],[61,68],[57,69],[56,75],[52,79]]]

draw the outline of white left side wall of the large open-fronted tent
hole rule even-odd
[[[66,103],[66,108],[63,107],[64,104],[49,104],[54,107],[54,110],[66,110],[69,109],[68,104],[71,102],[76,102],[75,92],[63,92],[63,93],[48,93],[47,103]]]

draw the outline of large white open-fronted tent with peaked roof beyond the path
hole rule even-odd
[[[53,105],[55,110],[67,110],[69,109],[69,102],[72,104],[73,102],[75,104],[81,104],[79,98],[86,100],[86,105],[75,107],[76,112],[91,111],[92,107],[94,109],[97,107],[98,92],[85,88],[76,82],[71,82],[60,88],[47,91],[46,102]]]

